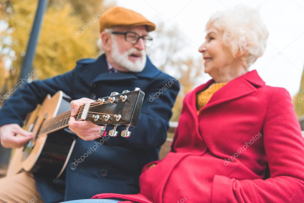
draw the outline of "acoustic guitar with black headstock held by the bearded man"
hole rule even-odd
[[[79,108],[75,120],[89,120],[101,126],[100,136],[106,136],[106,127],[114,126],[109,136],[118,135],[117,127],[126,126],[121,136],[129,137],[130,127],[135,127],[143,103],[144,92],[140,88],[125,90],[121,94],[112,92],[109,97],[98,98]],[[22,170],[35,173],[39,170],[52,177],[60,177],[73,151],[77,136],[70,133],[68,121],[71,117],[71,98],[62,91],[52,97],[48,95],[41,105],[29,115],[24,128],[33,133],[25,146],[15,149],[10,160],[7,176]],[[20,135],[16,135],[20,136]]]

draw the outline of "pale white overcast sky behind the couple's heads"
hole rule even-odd
[[[264,55],[250,70],[256,69],[266,84],[284,87],[292,96],[299,91],[304,64],[303,0],[106,0],[105,4],[113,2],[143,14],[158,26],[166,22],[164,26],[176,27],[189,45],[185,54],[190,53],[195,59],[201,56],[198,47],[204,41],[210,14],[239,4],[251,8],[261,5],[259,12],[269,30],[269,38]],[[205,81],[209,79],[204,77]]]

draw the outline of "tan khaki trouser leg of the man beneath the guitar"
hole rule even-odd
[[[5,203],[43,203],[33,174],[21,172],[0,179],[0,202]]]

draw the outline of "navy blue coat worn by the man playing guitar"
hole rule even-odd
[[[178,81],[158,70],[148,57],[140,73],[109,73],[105,55],[101,55],[97,59],[77,61],[76,67],[63,75],[26,84],[5,102],[0,110],[0,126],[8,123],[22,126],[26,114],[47,94],[54,95],[58,90],[72,99],[97,99],[113,91],[133,91],[135,87],[145,92],[145,98],[136,128],[130,128],[131,136],[110,137],[75,166],[75,159],[96,142],[78,138],[64,178],[53,180],[45,174],[34,174],[43,201],[85,199],[99,193],[138,193],[143,166],[158,159],[159,148],[166,140],[171,108],[179,91]]]

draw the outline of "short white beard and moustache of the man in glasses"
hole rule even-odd
[[[115,61],[115,63],[120,64],[122,67],[125,67],[129,71],[132,72],[141,72],[146,65],[147,57],[146,51],[141,50],[138,51],[136,48],[132,47],[131,49],[127,50],[125,53],[119,53],[118,43],[116,40],[112,41],[112,52],[111,57]],[[129,60],[128,56],[131,53],[140,53],[141,59],[136,60],[134,63]]]

